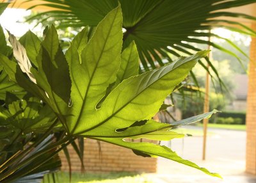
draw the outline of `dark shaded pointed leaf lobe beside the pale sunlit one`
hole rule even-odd
[[[47,93],[54,111],[60,115],[65,115],[70,99],[71,82],[68,64],[61,50],[54,26],[51,26],[47,31],[37,59],[38,71],[31,68],[36,83]]]

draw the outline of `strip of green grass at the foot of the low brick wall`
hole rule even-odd
[[[54,174],[54,179],[56,182],[68,183],[69,175],[67,172],[58,172]],[[44,183],[53,183],[52,175],[45,176]],[[127,173],[127,172],[117,172],[117,173],[72,173],[73,183],[151,183],[145,175],[138,173]]]

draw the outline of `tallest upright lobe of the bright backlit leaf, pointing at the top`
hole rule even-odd
[[[79,62],[76,50],[68,56],[72,73],[70,131],[76,130],[84,116],[95,111],[104,97],[106,88],[116,79],[122,47],[122,14],[120,7],[110,12],[97,26],[90,42],[81,53]],[[72,44],[71,48],[72,49]],[[72,49],[74,50],[74,49]]]

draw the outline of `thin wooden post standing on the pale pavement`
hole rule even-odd
[[[210,31],[211,33],[211,31]],[[209,36],[209,41],[211,41],[211,36]],[[211,45],[208,46],[208,49],[211,49]],[[209,52],[208,57],[211,61],[211,52]],[[207,63],[207,68],[209,70],[209,64]],[[209,91],[210,91],[210,75],[206,72],[205,76],[205,96],[204,96],[204,113],[209,112]],[[204,139],[203,139],[203,160],[205,160],[205,152],[206,152],[206,138],[207,138],[207,124],[209,119],[205,118],[203,120],[204,123]]]

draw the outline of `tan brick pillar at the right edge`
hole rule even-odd
[[[256,24],[252,28],[256,31]],[[246,172],[256,174],[256,38],[252,38],[250,58],[246,111]]]

